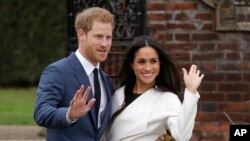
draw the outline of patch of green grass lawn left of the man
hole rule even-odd
[[[0,88],[0,125],[35,125],[35,88]]]

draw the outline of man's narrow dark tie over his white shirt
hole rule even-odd
[[[95,111],[96,111],[96,118],[98,123],[98,114],[99,114],[99,108],[100,108],[100,102],[101,102],[101,88],[100,83],[98,79],[98,69],[94,69],[94,85],[95,85]]]

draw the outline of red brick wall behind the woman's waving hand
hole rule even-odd
[[[250,124],[250,32],[216,32],[214,9],[201,1],[147,3],[154,38],[180,67],[197,64],[205,78],[192,140],[228,140],[229,120]]]

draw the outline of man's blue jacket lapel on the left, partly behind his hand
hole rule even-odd
[[[79,82],[79,88],[80,88],[80,85],[84,85],[84,88],[86,90],[86,88],[88,86],[91,86],[90,85],[90,81],[89,81],[89,78],[85,72],[85,70],[83,69],[80,61],[78,60],[78,58],[76,57],[75,53],[71,53],[70,56],[68,57],[69,58],[69,62],[72,66],[72,69],[74,70],[74,75],[75,75],[75,78],[76,80]],[[90,92],[90,95],[88,97],[88,101],[90,99],[93,98],[93,93],[92,91]],[[95,108],[92,106],[92,108],[90,109],[90,113],[91,113],[91,116],[92,116],[92,119],[93,119],[93,123],[95,124],[95,126],[97,127],[97,122],[96,122],[96,115],[95,115]]]

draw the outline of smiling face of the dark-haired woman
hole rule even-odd
[[[150,46],[140,48],[131,64],[139,85],[153,86],[160,72],[160,60],[156,50]]]

